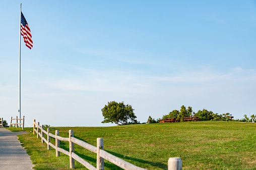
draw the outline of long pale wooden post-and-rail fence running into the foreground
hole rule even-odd
[[[40,132],[41,131],[41,132]],[[104,169],[104,159],[110,161],[111,163],[127,170],[142,170],[144,168],[138,167],[132,163],[129,163],[125,160],[120,159],[104,150],[103,138],[97,138],[97,146],[93,146],[89,143],[86,143],[82,140],[79,140],[74,137],[73,130],[69,130],[69,137],[61,137],[59,136],[59,131],[55,130],[55,135],[50,133],[50,129],[47,128],[47,131],[44,130],[43,125],[39,126],[39,122],[33,122],[33,134],[37,134],[37,138],[41,137],[41,142],[47,144],[47,149],[49,150],[51,147],[56,150],[56,157],[59,156],[59,153],[62,152],[68,156],[70,156],[70,168],[75,168],[75,160],[83,164],[88,169]],[[47,135],[44,138],[44,134]],[[50,142],[50,137],[55,138],[55,145]],[[70,150],[67,151],[59,147],[59,141],[68,141]],[[74,153],[74,143],[88,149],[97,154],[97,164],[94,167],[92,164],[87,162],[85,159],[78,156]],[[172,157],[168,160],[168,170],[180,170],[182,166],[181,159],[179,157]]]

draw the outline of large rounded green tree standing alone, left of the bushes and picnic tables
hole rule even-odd
[[[137,122],[134,114],[134,109],[131,105],[124,105],[122,102],[111,101],[108,102],[104,108],[101,109],[104,121],[101,123],[115,123],[118,125],[124,125],[128,123],[128,120]]]

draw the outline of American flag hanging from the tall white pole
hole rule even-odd
[[[32,36],[30,33],[28,23],[22,13],[21,13],[21,35],[23,36],[26,46],[29,49],[31,49],[33,47]]]

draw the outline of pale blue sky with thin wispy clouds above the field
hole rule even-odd
[[[101,123],[110,101],[137,120],[193,111],[255,114],[256,1],[1,1],[0,117],[50,126]],[[28,127],[25,123],[25,127]]]

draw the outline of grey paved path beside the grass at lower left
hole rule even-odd
[[[17,137],[25,133],[0,128],[0,169],[32,169],[30,157]]]

